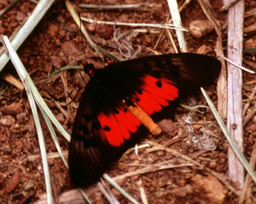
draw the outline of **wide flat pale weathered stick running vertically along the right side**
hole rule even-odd
[[[225,5],[230,0],[223,0]],[[242,64],[245,2],[239,1],[228,10],[227,58]],[[242,72],[227,64],[227,129],[240,149],[243,147]],[[229,178],[244,185],[244,168],[231,148],[228,151]]]

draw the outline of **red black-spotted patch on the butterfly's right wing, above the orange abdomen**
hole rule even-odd
[[[178,89],[173,82],[166,78],[153,78],[146,75],[142,79],[145,84],[141,87],[141,93],[137,93],[137,104],[147,114],[159,112],[162,106],[168,106],[168,101],[178,97]]]

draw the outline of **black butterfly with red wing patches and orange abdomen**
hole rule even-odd
[[[86,187],[141,135],[159,135],[155,122],[168,117],[177,101],[213,83],[219,60],[192,53],[154,55],[85,67],[91,77],[81,96],[70,140],[70,178]]]

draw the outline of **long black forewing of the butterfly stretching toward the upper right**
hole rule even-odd
[[[110,64],[108,67],[141,69],[141,72],[147,72],[155,78],[173,80],[186,90],[191,86],[199,87],[211,84],[218,77],[221,63],[208,55],[181,53],[147,56]]]

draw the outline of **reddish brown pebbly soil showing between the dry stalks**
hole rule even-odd
[[[0,2],[0,10],[6,7],[8,2],[10,1],[3,0]],[[74,5],[77,5],[79,2],[82,1],[74,1]],[[110,3],[128,4],[138,1],[84,0],[83,2],[101,5]],[[222,24],[225,24],[227,12],[221,10],[221,1],[211,2],[218,20],[220,20]],[[256,3],[253,1],[247,0],[245,2],[246,11],[256,6]],[[81,16],[87,16],[94,20],[116,20],[130,23],[166,22],[169,16],[167,2],[153,1],[152,3],[156,6],[152,8],[144,7],[143,11],[139,9],[128,11],[85,11],[78,7],[76,7],[76,9],[81,13]],[[20,0],[20,2],[0,17],[0,33],[10,37],[17,26],[33,11],[34,7],[34,2]],[[182,11],[182,23],[186,28],[188,28],[192,20],[203,19],[206,19],[206,17],[196,1],[192,1],[184,11]],[[251,24],[255,24],[254,16],[246,19],[245,27]],[[113,40],[113,33],[117,28],[121,29],[122,33],[131,29],[124,26],[114,27],[96,24],[86,24],[86,27],[93,37],[101,39],[101,42],[104,39],[107,43],[115,42]],[[175,33],[173,31],[171,31],[171,33],[173,33],[175,37]],[[224,28],[222,30],[224,47],[226,46],[225,43],[227,40],[226,33],[227,30]],[[130,43],[133,44],[135,50],[137,49],[137,45],[141,47],[141,55],[153,55],[153,48],[159,39],[158,46],[155,48],[156,52],[174,52],[166,31],[163,32],[162,37],[159,38],[159,36],[160,33],[138,33],[136,37],[132,38]],[[207,52],[209,55],[215,55],[216,33],[208,33],[203,38],[194,38],[190,33],[186,33],[185,37],[188,51],[196,52],[200,48],[203,49],[204,54]],[[246,40],[250,38],[252,38],[252,40],[254,39],[252,33],[245,36]],[[174,41],[177,45],[176,38],[174,38]],[[64,126],[65,130],[69,132],[72,130],[72,122],[76,109],[74,109],[71,115],[68,114],[66,117],[61,113],[60,109],[56,107],[55,101],[61,104],[66,112],[64,81],[61,80],[59,75],[57,75],[57,77],[49,77],[48,74],[72,61],[77,62],[79,56],[83,56],[83,49],[88,62],[93,62],[99,67],[114,61],[103,56],[105,60],[105,63],[103,63],[101,58],[92,50],[84,38],[84,47],[81,42],[82,38],[79,28],[74,24],[74,20],[65,7],[65,2],[57,1],[18,51],[21,60],[25,64],[31,78],[33,78],[40,94],[43,95],[44,100],[47,101],[47,105]],[[101,43],[98,43],[98,45],[102,46]],[[119,51],[113,47],[103,47],[108,51],[120,55]],[[207,49],[205,49],[205,47]],[[137,55],[137,57],[141,55]],[[245,54],[245,59],[254,62],[254,54]],[[82,63],[84,63],[84,60]],[[16,86],[3,80],[7,73],[11,73],[18,78],[15,69],[13,69],[11,64],[7,64],[6,68],[1,73],[0,89],[0,202],[36,202],[39,199],[45,198],[46,192],[38,137],[34,128],[34,120],[25,91],[20,91]],[[80,94],[76,95],[76,93],[78,90],[82,89],[81,86],[83,86],[83,82],[81,83],[79,74],[75,74],[74,71],[68,71],[67,78],[68,82],[66,85],[68,86],[68,91],[71,93],[70,95],[71,98],[74,99],[74,103],[78,104]],[[77,82],[79,80],[80,82]],[[245,99],[251,94],[254,83],[254,78],[246,74],[246,89],[243,93]],[[207,90],[213,103],[216,104],[216,86],[210,86]],[[184,103],[189,106],[206,104],[200,94],[192,96],[191,99],[184,101]],[[150,144],[150,147],[139,149],[138,157],[134,151],[126,153],[119,162],[111,167],[108,174],[111,177],[124,175],[127,172],[137,171],[145,165],[153,165],[164,161],[171,162],[172,164],[186,163],[185,160],[182,160],[180,157],[174,157],[173,153],[168,151],[168,149],[175,149],[177,152],[193,158],[201,165],[209,167],[212,171],[227,175],[227,141],[224,139],[209,109],[200,110],[204,112],[203,115],[197,112],[190,112],[183,108],[177,108],[177,115],[173,117],[173,123],[168,124],[168,126],[172,126],[174,129],[174,131],[170,132],[170,135],[159,135],[157,137],[148,135],[144,142]],[[199,140],[203,140],[201,138],[201,128],[211,131],[214,135],[210,136],[210,140],[207,140],[209,144],[213,144],[213,149],[206,148],[205,150],[205,147],[201,149],[201,143],[191,144],[189,134],[185,131],[186,125],[184,125],[185,123],[183,121],[183,117],[188,115],[192,118],[194,134],[197,135]],[[183,126],[181,122],[179,122],[180,120],[183,122]],[[245,126],[246,156],[250,156],[254,147],[255,130],[255,118],[253,118],[247,126]],[[43,123],[43,133],[47,153],[56,153],[56,147],[52,142],[51,135],[49,131],[47,131],[45,123]],[[175,136],[177,136],[177,138],[172,140]],[[63,149],[67,155],[68,142],[60,134],[58,134],[58,139],[61,144],[61,149]],[[164,150],[163,145],[167,143],[169,143],[167,146],[168,149]],[[159,145],[162,146],[159,147]],[[61,193],[70,191],[75,187],[70,183],[68,171],[63,162],[61,162],[60,157],[50,158],[48,162],[51,171],[53,193],[57,200]],[[141,184],[138,183],[139,181],[141,181]],[[139,186],[144,188],[146,199],[149,203],[234,203],[238,201],[236,194],[228,189],[226,184],[222,184],[211,172],[196,165],[169,168],[155,172],[152,171],[143,175],[134,175],[125,180],[121,180],[119,184],[140,203],[141,193]],[[236,188],[235,185],[233,185],[233,187]],[[92,186],[87,192],[93,203],[107,202],[97,186]],[[128,202],[117,190],[113,189],[112,192],[119,202]],[[76,197],[75,195],[73,196]],[[79,196],[74,199],[78,199],[76,200],[77,203],[81,202]]]

